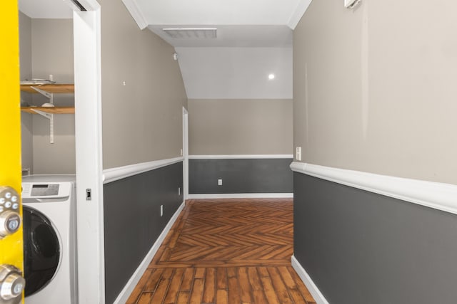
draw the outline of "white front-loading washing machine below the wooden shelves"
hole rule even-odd
[[[74,175],[22,178],[26,304],[76,304]]]

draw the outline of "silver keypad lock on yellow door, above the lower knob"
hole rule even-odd
[[[11,187],[0,187],[0,239],[14,234],[21,226],[20,199]]]

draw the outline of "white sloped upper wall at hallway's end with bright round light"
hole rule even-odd
[[[291,99],[292,48],[176,48],[189,99]],[[268,79],[273,73],[275,78]]]

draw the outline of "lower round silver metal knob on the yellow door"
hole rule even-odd
[[[20,295],[24,290],[26,281],[21,276],[21,271],[11,265],[0,266],[0,303],[19,303]]]

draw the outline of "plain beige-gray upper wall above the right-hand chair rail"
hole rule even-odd
[[[456,1],[312,1],[293,34],[303,161],[457,183]]]

